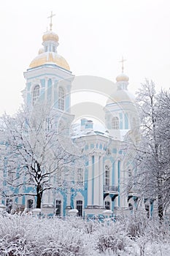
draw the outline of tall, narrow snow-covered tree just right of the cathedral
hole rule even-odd
[[[167,156],[165,157],[168,151],[164,151],[166,147],[163,146],[168,137],[162,134],[163,126],[166,126],[165,115],[161,110],[160,96],[156,94],[152,80],[146,80],[142,84],[137,101],[142,137],[139,147],[136,148],[138,166],[134,172],[135,187],[144,200],[158,203],[158,217],[163,219],[166,206],[164,202],[169,201],[169,162]],[[167,133],[169,134],[169,131]]]

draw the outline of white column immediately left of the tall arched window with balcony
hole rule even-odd
[[[98,204],[104,206],[104,169],[103,169],[103,157],[99,157],[98,161],[99,170],[99,191],[98,191]]]

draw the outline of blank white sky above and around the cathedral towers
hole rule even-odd
[[[124,56],[128,89],[144,78],[157,89],[170,86],[169,0],[29,0],[3,1],[0,7],[0,114],[15,113],[25,88],[23,72],[42,48],[42,34],[53,10],[58,54],[74,75],[114,80]]]

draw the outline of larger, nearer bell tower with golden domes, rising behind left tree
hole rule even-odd
[[[24,78],[26,89],[24,102],[31,110],[37,101],[45,102],[61,112],[70,113],[70,91],[74,75],[66,59],[58,54],[58,34],[52,30],[53,13],[50,15],[50,30],[42,36],[42,48],[29,65]]]

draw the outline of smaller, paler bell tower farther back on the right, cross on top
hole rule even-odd
[[[135,97],[128,91],[128,76],[124,73],[124,61],[122,59],[122,72],[117,75],[117,91],[111,95],[105,106],[106,127],[116,140],[123,140],[125,134],[134,129],[136,122]]]

